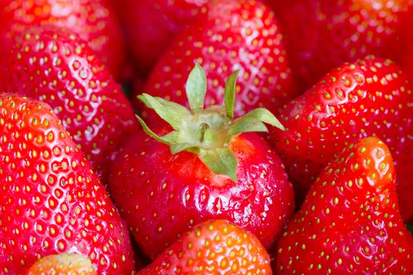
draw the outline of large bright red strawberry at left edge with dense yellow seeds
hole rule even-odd
[[[76,252],[98,274],[133,274],[125,224],[52,109],[8,94],[0,107],[0,273]]]

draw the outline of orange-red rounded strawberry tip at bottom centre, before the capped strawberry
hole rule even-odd
[[[270,256],[258,239],[228,221],[192,228],[138,275],[272,274]]]

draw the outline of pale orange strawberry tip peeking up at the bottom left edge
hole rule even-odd
[[[45,256],[23,275],[97,275],[92,262],[79,254]]]

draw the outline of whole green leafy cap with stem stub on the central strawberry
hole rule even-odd
[[[228,175],[237,182],[237,159],[229,144],[235,135],[246,132],[266,132],[271,124],[284,130],[284,126],[267,109],[255,109],[241,118],[234,118],[235,85],[239,71],[226,80],[225,106],[215,105],[204,109],[207,93],[207,78],[204,70],[196,64],[189,74],[186,92],[191,110],[180,104],[149,94],[138,96],[147,107],[168,122],[173,132],[160,137],[153,133],[138,115],[138,121],[149,136],[171,147],[171,153],[189,151],[200,156],[201,161],[215,174]]]

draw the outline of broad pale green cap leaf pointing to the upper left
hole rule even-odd
[[[158,113],[158,115],[168,122],[173,129],[179,130],[182,126],[183,120],[187,119],[191,113],[188,109],[176,104],[174,102],[167,101],[163,98],[153,98],[149,94],[142,94],[138,96],[139,100],[142,100],[148,108],[151,108]]]

